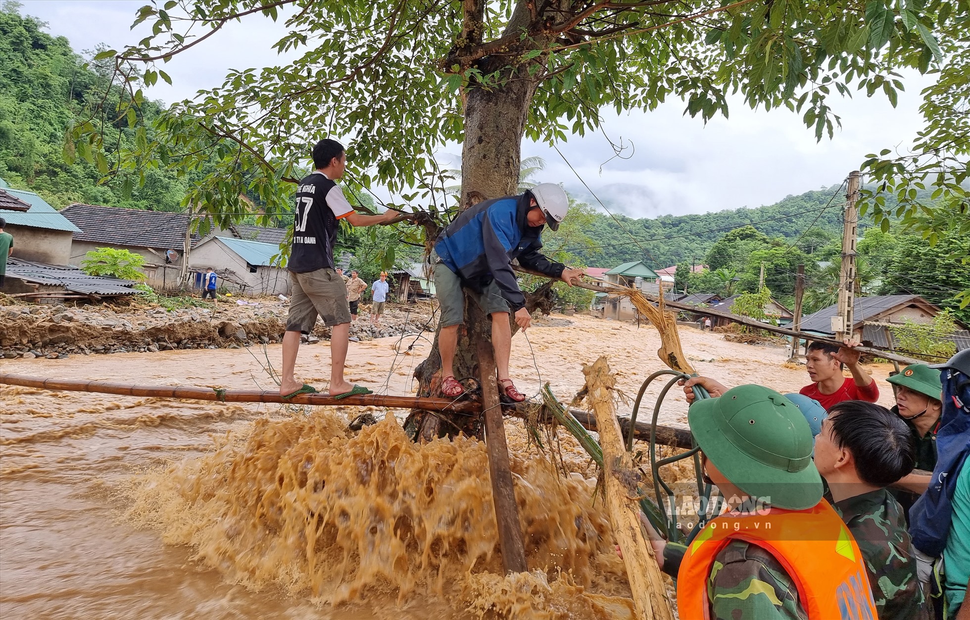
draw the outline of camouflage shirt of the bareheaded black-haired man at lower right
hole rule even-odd
[[[862,552],[880,620],[928,620],[902,507],[886,489],[832,505]]]

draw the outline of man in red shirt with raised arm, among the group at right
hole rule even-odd
[[[813,342],[808,347],[805,365],[808,376],[815,383],[802,387],[799,392],[819,401],[828,408],[844,400],[879,400],[879,387],[858,365],[857,342],[845,340],[844,347]],[[849,367],[852,377],[842,375],[842,364]]]

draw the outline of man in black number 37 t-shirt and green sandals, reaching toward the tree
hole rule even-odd
[[[350,307],[343,279],[334,268],[334,244],[338,220],[352,226],[385,224],[401,215],[388,209],[381,215],[362,215],[343,197],[335,181],[343,176],[347,157],[337,140],[320,140],[313,146],[315,171],[300,181],[293,222],[290,271],[290,310],[283,336],[283,374],[279,393],[284,397],[312,393],[316,389],[293,378],[300,350],[300,334],[309,333],[316,317],[323,317],[330,333],[330,395],[368,394],[343,379],[350,333]]]

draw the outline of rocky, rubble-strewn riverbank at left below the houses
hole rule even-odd
[[[58,358],[275,343],[285,330],[288,306],[276,297],[219,299],[172,310],[139,304],[0,305],[0,356]],[[351,338],[372,340],[436,327],[430,324],[432,306],[427,302],[392,304],[380,325],[372,325],[368,310],[362,306]],[[329,338],[330,329],[318,321],[308,340]]]

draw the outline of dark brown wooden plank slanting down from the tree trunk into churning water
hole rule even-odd
[[[526,546],[522,540],[519,506],[515,503],[512,471],[508,463],[505,426],[501,421],[501,401],[496,384],[495,356],[492,343],[478,339],[478,378],[482,387],[482,408],[485,413],[485,445],[488,448],[489,476],[492,479],[492,500],[495,519],[499,525],[501,564],[505,573],[527,573]]]

